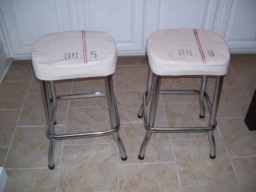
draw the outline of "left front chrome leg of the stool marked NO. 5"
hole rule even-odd
[[[49,96],[49,81],[41,80],[41,90],[44,102],[44,111],[47,119],[47,133],[55,135],[55,129],[52,119],[52,109],[51,109],[51,100]],[[54,149],[55,149],[56,140],[50,139],[49,151],[48,151],[48,167],[49,169],[54,169]]]

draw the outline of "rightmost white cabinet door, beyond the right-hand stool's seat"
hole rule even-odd
[[[256,52],[256,0],[220,0],[223,14],[216,30],[231,52]]]

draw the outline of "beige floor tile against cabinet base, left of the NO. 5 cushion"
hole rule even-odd
[[[31,60],[14,60],[4,81],[32,80],[33,76]]]

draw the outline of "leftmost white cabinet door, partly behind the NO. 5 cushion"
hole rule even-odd
[[[64,0],[0,0],[0,8],[10,57],[30,57],[38,38],[71,29]]]

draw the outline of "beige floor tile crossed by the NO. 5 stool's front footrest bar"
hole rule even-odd
[[[96,132],[111,129],[108,107],[71,108],[66,133]],[[65,140],[65,144],[114,143],[112,135]]]

